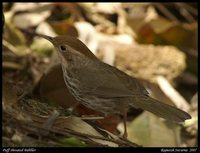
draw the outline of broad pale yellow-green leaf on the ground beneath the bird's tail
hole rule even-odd
[[[149,112],[128,125],[128,135],[129,140],[145,147],[177,147],[180,144],[180,128]]]

